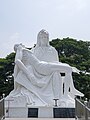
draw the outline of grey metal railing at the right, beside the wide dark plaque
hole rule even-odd
[[[87,107],[87,102],[82,103],[75,98],[75,117],[78,120],[90,120],[90,108]]]

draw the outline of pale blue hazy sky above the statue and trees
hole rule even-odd
[[[0,58],[17,43],[33,47],[41,29],[50,40],[90,41],[90,0],[0,0]]]

